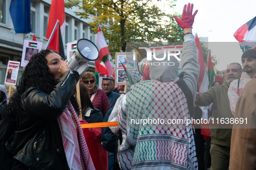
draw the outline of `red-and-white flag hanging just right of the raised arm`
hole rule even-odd
[[[207,73],[205,71],[204,56],[203,56],[201,44],[200,44],[197,34],[195,35],[194,41],[197,44],[197,58],[198,58],[199,66],[200,66],[200,73],[199,73],[199,78],[198,78],[199,92],[204,93],[205,91],[208,90],[209,82],[207,79]]]

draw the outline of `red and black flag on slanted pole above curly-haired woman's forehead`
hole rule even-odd
[[[58,54],[60,54],[60,56],[63,59],[65,59],[65,52],[64,52],[64,45],[63,45],[63,41],[62,41],[61,28],[60,28],[58,20],[55,24],[55,27],[52,30],[52,34],[49,38],[48,43],[46,44],[45,49],[54,50],[54,51],[58,52]]]

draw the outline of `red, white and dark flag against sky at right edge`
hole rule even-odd
[[[256,49],[256,17],[242,25],[234,34],[244,50]]]

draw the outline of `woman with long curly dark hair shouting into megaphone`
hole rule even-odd
[[[0,158],[1,167],[94,169],[73,92],[79,74],[70,70],[66,63],[67,60],[62,60],[56,52],[42,50],[27,64],[0,123],[0,128],[15,131],[0,134],[0,137],[9,136],[7,142],[0,138],[1,144],[6,142],[8,152]],[[14,123],[10,128],[11,122]],[[5,152],[2,145],[0,150],[0,153]]]

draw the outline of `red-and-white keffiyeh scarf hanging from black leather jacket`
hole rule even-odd
[[[78,134],[70,113],[77,124]],[[83,170],[95,170],[77,113],[70,101],[68,107],[57,121],[62,134],[62,142],[69,169],[81,170],[82,165]]]

